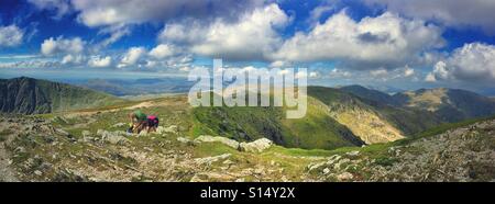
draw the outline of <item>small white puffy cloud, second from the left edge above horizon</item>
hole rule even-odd
[[[62,36],[57,38],[50,37],[41,45],[41,53],[43,55],[54,54],[79,54],[84,50],[86,42],[80,37],[66,39]]]

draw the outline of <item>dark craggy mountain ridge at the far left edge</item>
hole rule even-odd
[[[86,88],[28,77],[0,79],[0,111],[43,114],[123,102]]]

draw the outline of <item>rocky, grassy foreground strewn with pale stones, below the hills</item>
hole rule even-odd
[[[90,129],[105,114],[0,120],[2,181],[495,181],[495,120],[336,150],[189,137],[182,124]],[[81,126],[84,126],[81,128]]]

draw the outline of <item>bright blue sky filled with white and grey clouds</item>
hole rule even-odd
[[[308,83],[495,95],[495,1],[2,0],[0,78],[308,68]]]

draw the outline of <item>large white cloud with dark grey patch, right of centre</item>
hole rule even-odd
[[[309,33],[296,33],[274,58],[341,60],[346,67],[396,68],[417,64],[424,53],[442,45],[441,30],[424,21],[386,12],[356,22],[341,11],[317,24]]]

